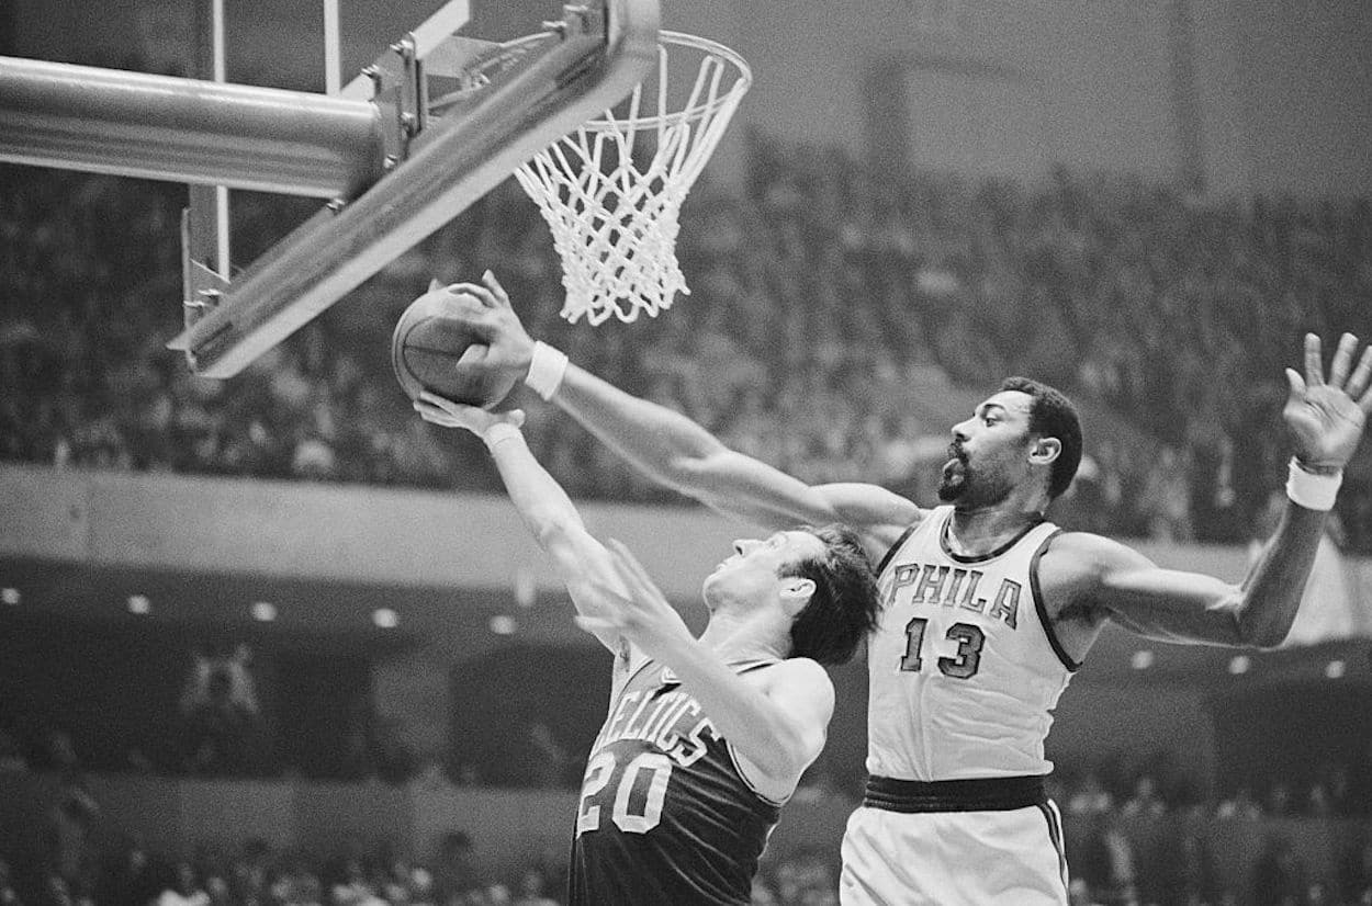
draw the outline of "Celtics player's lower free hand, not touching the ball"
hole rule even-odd
[[[576,617],[576,625],[601,636],[623,636],[659,659],[664,647],[691,639],[681,614],[628,548],[613,539],[606,547],[626,591],[604,584],[591,587],[579,598],[583,613]]]

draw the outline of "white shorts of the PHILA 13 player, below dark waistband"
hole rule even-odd
[[[1062,816],[1052,802],[915,814],[862,806],[848,818],[842,858],[842,906],[1067,902]]]

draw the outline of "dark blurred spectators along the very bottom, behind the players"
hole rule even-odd
[[[1187,802],[1166,779],[1136,774],[1125,795],[1093,772],[1055,779],[1074,906],[1365,906],[1372,902],[1372,828],[1283,825],[1255,802],[1218,811]],[[1238,796],[1243,799],[1243,796]],[[847,813],[847,798],[833,807]],[[198,843],[154,850],[111,825],[64,785],[36,846],[0,851],[4,906],[558,906],[565,853],[486,853],[465,831],[423,854],[387,840],[280,847]],[[837,843],[837,842],[836,842]],[[1321,848],[1324,847],[1324,848]],[[1231,864],[1225,865],[1225,859]],[[755,906],[833,906],[834,846],[764,855]]]

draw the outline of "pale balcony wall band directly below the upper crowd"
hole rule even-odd
[[[579,504],[632,540],[674,599],[753,529],[702,507]],[[561,588],[499,496],[364,485],[0,466],[0,556],[413,587]],[[362,518],[359,514],[365,514]],[[1139,546],[1159,563],[1238,580],[1240,547]],[[1368,576],[1368,563],[1354,569]],[[1368,580],[1360,580],[1368,581]]]

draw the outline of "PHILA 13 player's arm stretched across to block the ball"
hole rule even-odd
[[[864,536],[868,552],[875,555],[885,554],[900,532],[921,518],[919,507],[878,485],[809,487],[727,448],[681,413],[567,363],[565,356],[530,339],[490,271],[483,284],[453,286],[484,306],[466,323],[486,339],[486,345],[469,348],[465,360],[525,380],[656,481],[760,528],[847,522]]]

